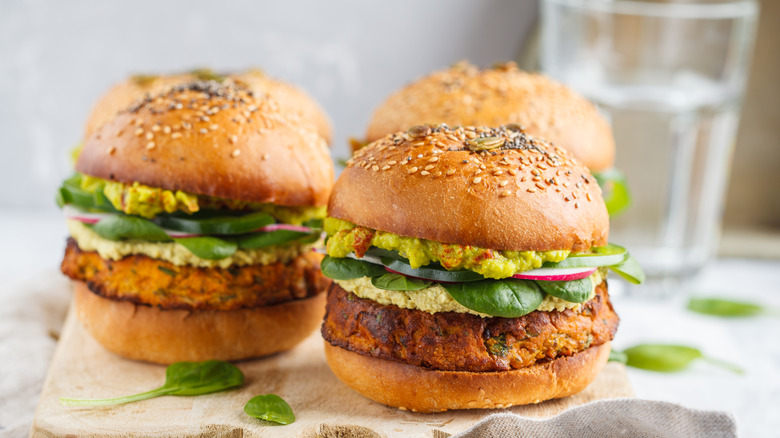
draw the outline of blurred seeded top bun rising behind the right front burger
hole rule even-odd
[[[612,130],[593,104],[514,63],[487,70],[458,63],[407,85],[376,109],[366,137],[374,141],[425,123],[517,123],[529,134],[568,149],[593,170],[607,169],[615,160]]]

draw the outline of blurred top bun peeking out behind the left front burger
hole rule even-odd
[[[330,118],[311,96],[298,87],[271,79],[260,70],[247,70],[227,75],[217,75],[209,70],[197,70],[173,75],[132,76],[114,85],[100,97],[87,119],[86,135],[89,136],[97,128],[114,118],[117,112],[129,107],[135,101],[143,99],[147,95],[156,95],[174,85],[198,80],[236,82],[248,87],[258,95],[267,94],[278,102],[279,111],[288,118],[299,119],[298,121],[301,123],[312,124],[312,129],[317,131],[328,143],[333,138]]]

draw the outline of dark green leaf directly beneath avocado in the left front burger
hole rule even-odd
[[[267,213],[256,212],[242,216],[229,216],[220,213],[215,217],[183,217],[164,214],[154,218],[154,222],[163,228],[192,234],[244,234],[274,223]]]

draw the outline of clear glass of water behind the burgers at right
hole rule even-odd
[[[610,240],[665,294],[713,256],[720,234],[758,4],[543,0],[545,74],[596,103],[612,123],[615,167],[632,205]]]

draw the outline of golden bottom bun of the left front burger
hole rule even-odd
[[[76,315],[106,349],[130,359],[170,364],[239,360],[289,350],[322,322],[325,294],[237,310],[164,310],[73,287]]]

